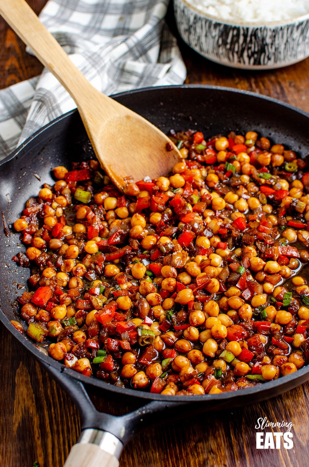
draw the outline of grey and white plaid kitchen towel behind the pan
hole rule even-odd
[[[186,69],[164,16],[169,0],[49,0],[40,19],[98,90],[182,84]],[[0,159],[76,108],[46,69],[0,91]]]

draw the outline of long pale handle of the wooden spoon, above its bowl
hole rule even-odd
[[[55,75],[78,106],[84,87],[91,85],[26,1],[0,0],[0,14],[40,62]]]

